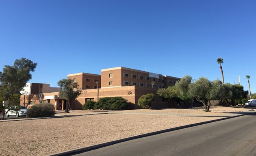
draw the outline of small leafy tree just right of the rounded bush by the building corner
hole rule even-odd
[[[178,91],[178,89],[176,89],[176,86],[169,86],[167,88],[161,88],[156,91],[157,95],[162,96],[165,100],[168,101],[169,108],[171,108],[170,106],[171,100],[176,100],[176,101],[180,100],[178,99],[179,93],[180,92]]]

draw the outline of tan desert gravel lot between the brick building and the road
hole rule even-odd
[[[79,110],[56,114],[63,116],[61,118],[5,121],[0,122],[0,155],[45,156],[148,132],[220,119],[229,116],[227,112],[243,111],[248,109],[213,107],[210,113],[201,111],[201,108]],[[3,140],[3,137],[6,139]]]

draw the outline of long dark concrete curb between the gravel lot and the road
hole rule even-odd
[[[82,147],[82,148],[78,148],[78,149],[75,149],[75,150],[69,150],[69,151],[65,151],[65,152],[59,152],[59,153],[56,153],[56,154],[50,154],[48,156],[70,156],[70,155],[74,155],[74,154],[88,152],[88,151],[91,151],[91,150],[96,150],[96,149],[106,147],[106,146],[110,146],[110,145],[114,145],[114,144],[117,144],[117,143],[130,141],[130,140],[133,140],[133,139],[149,137],[149,136],[156,135],[156,134],[171,132],[171,131],[174,131],[174,130],[180,130],[180,129],[184,129],[184,128],[190,128],[190,127],[193,127],[193,126],[199,126],[199,125],[208,124],[208,123],[212,123],[212,122],[216,122],[216,121],[231,119],[231,118],[234,118],[234,117],[241,117],[241,116],[250,115],[250,114],[253,114],[253,113],[255,113],[255,112],[248,113],[248,114],[236,115],[236,116],[232,116],[232,117],[225,117],[225,118],[221,118],[221,119],[215,119],[215,120],[211,120],[211,121],[204,121],[204,122],[185,125],[185,126],[180,126],[180,127],[176,127],[176,128],[169,128],[169,129],[166,129],[166,130],[150,132],[150,133],[146,133],[146,134],[137,135],[137,136],[134,136],[134,137],[128,137],[128,138],[119,139],[119,140],[115,140],[115,141],[110,141],[110,142],[107,142],[107,143],[101,143],[101,144],[93,145],[93,146],[89,146],[89,147]]]

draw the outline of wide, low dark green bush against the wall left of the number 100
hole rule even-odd
[[[127,108],[127,100],[122,97],[100,98],[100,100],[94,105],[94,109],[101,110],[125,110]]]

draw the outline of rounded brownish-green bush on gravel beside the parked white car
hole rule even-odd
[[[27,117],[50,117],[54,116],[55,108],[50,103],[34,104],[27,110]]]

